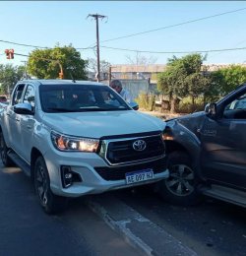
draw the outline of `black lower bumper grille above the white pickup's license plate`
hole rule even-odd
[[[125,179],[126,172],[144,170],[147,168],[152,168],[154,173],[160,173],[166,169],[166,159],[159,159],[148,161],[139,164],[133,164],[128,166],[112,166],[112,167],[94,167],[95,171],[105,180],[120,180]]]

